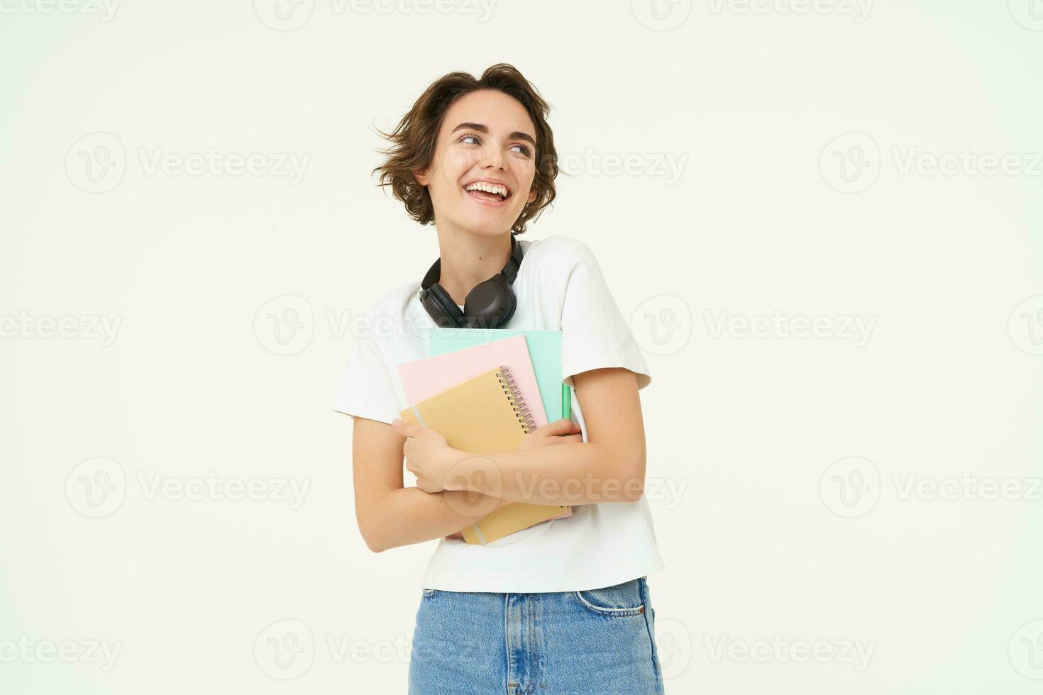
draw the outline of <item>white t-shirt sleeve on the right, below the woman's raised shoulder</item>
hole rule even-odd
[[[580,243],[567,264],[568,277],[561,307],[561,374],[569,387],[573,376],[591,369],[623,367],[637,376],[638,390],[652,382],[641,349],[620,313],[601,267],[590,249]]]

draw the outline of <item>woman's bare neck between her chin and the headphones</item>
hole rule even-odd
[[[508,230],[503,234],[486,237],[439,229],[438,253],[442,259],[438,282],[453,301],[463,304],[468,292],[507,265],[511,257],[511,233]]]

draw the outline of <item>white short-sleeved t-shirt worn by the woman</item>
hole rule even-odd
[[[513,283],[517,308],[502,328],[562,331],[561,373],[605,367],[651,381],[640,348],[609,293],[587,246],[551,235],[518,240],[525,253]],[[397,365],[428,356],[435,322],[419,300],[420,280],[395,289],[368,311],[371,327],[348,358],[334,409],[390,423],[409,407]],[[362,331],[360,331],[362,332]],[[587,441],[573,391],[573,420]],[[407,473],[408,475],[408,473]],[[408,483],[407,483],[408,485]],[[441,538],[422,588],[443,591],[537,593],[610,587],[663,569],[648,499],[573,505],[573,516],[536,524],[487,545]]]

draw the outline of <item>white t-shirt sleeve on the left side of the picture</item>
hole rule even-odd
[[[333,409],[388,424],[399,417],[398,396],[372,333],[356,341]]]

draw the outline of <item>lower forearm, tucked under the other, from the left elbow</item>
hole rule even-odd
[[[419,488],[401,488],[373,505],[363,536],[375,552],[423,543],[466,528],[508,503],[469,491],[427,493]]]

